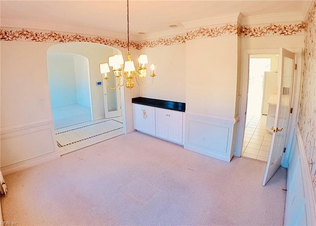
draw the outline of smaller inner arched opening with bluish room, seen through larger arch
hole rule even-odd
[[[55,129],[92,121],[88,59],[74,53],[48,53],[47,69]]]

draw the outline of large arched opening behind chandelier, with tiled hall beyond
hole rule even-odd
[[[57,44],[47,50],[47,69],[59,153],[124,134],[121,101],[105,90],[99,65],[118,49],[93,43]],[[115,99],[113,99],[113,98]],[[114,113],[111,117],[108,112]]]

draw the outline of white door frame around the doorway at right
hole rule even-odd
[[[299,108],[299,98],[300,98],[300,88],[301,88],[301,77],[302,77],[302,48],[286,48],[295,53],[295,64],[297,68],[294,72],[294,84],[293,84],[293,96],[291,105],[293,107],[293,112],[289,117],[288,132],[285,139],[285,146],[287,150],[291,149],[292,139],[294,136],[295,123],[298,118],[298,108]],[[248,93],[248,83],[249,83],[249,55],[251,54],[279,54],[279,48],[270,49],[244,49],[242,52],[242,67],[241,67],[241,87],[240,93],[241,98],[239,102],[239,125],[237,129],[237,139],[236,139],[236,149],[235,156],[240,157],[242,151],[242,143],[245,132],[246,124],[246,109],[247,109],[247,93]],[[288,167],[288,157],[289,151],[283,154],[282,167]]]

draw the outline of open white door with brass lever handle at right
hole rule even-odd
[[[283,148],[287,134],[289,110],[292,98],[295,53],[280,49],[278,61],[278,93],[276,102],[276,118],[272,127],[273,136],[262,185],[272,178],[281,166]]]

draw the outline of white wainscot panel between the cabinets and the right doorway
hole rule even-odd
[[[184,148],[230,162],[234,155],[237,120],[186,113]]]

